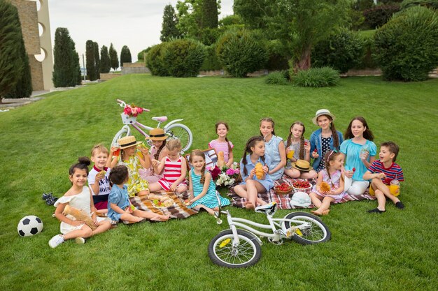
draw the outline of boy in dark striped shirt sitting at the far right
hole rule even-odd
[[[369,213],[382,214],[385,212],[386,197],[393,200],[395,207],[404,209],[404,204],[397,196],[390,193],[389,187],[393,180],[404,181],[403,170],[400,165],[395,163],[398,151],[399,147],[395,142],[383,142],[380,145],[380,160],[374,161],[363,175],[364,180],[371,180],[370,193],[374,190],[378,202],[377,208],[369,210]]]

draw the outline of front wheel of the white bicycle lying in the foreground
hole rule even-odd
[[[239,246],[233,248],[232,230],[225,230],[213,237],[209,244],[210,260],[221,267],[249,267],[260,260],[262,248],[257,239],[248,232],[237,230]]]

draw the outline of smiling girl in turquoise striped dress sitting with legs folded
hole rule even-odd
[[[190,163],[193,165],[190,170],[190,200],[187,202],[189,208],[196,210],[205,209],[209,214],[214,215],[218,210],[218,198],[222,206],[229,205],[229,200],[220,195],[216,196],[216,186],[211,179],[209,171],[205,170],[205,155],[199,149],[190,154]]]

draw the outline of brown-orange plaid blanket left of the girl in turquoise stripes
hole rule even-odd
[[[153,201],[148,200],[147,196],[135,196],[130,197],[131,203],[140,210],[143,211],[152,211],[156,214],[170,214],[171,218],[188,218],[189,216],[192,216],[193,214],[197,214],[198,211],[195,209],[190,209],[185,206],[184,200],[188,199],[188,192],[185,191],[181,193],[180,197],[176,195],[175,193],[167,192],[166,195],[171,197],[172,200],[174,200],[174,205],[169,207],[157,207]]]

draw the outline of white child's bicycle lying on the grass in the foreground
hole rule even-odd
[[[318,244],[330,240],[332,234],[318,216],[306,212],[292,212],[284,218],[272,218],[276,210],[276,202],[255,208],[255,212],[266,214],[269,225],[232,217],[229,211],[215,212],[218,224],[222,223],[220,214],[227,215],[229,230],[222,230],[210,241],[211,261],[228,268],[252,266],[260,260],[262,255],[262,248],[260,248],[262,241],[257,236],[267,237],[269,242],[278,245],[283,244],[284,239],[292,239],[299,244]],[[255,230],[249,225],[264,228],[270,232]]]

